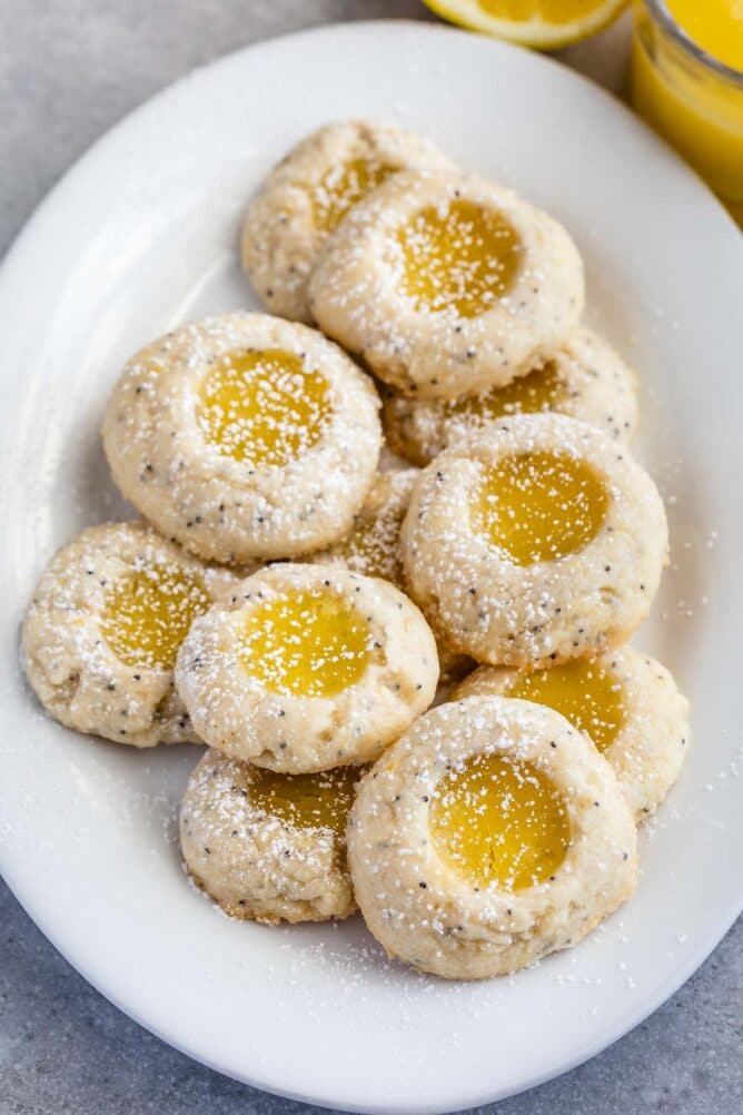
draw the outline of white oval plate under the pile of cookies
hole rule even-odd
[[[384,961],[358,919],[270,929],[186,883],[179,795],[196,760],[65,731],[16,665],[52,550],[124,510],[98,426],[137,346],[254,304],[244,201],[316,125],[384,115],[564,221],[590,318],[637,365],[643,456],[673,564],[644,642],[694,708],[695,744],[632,901],[579,948],[512,979],[444,983]],[[41,137],[40,137],[41,138]],[[444,1112],[537,1084],[635,1026],[741,903],[741,240],[701,183],[607,95],[535,55],[434,27],[356,23],[280,39],[180,81],[115,128],[41,206],[0,277],[0,865],[104,995],[193,1057],[358,1112]]]

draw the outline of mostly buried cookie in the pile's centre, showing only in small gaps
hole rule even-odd
[[[417,468],[379,473],[353,527],[332,550],[313,558],[321,564],[351,569],[365,576],[382,576],[405,592],[400,563],[400,527],[408,511]],[[461,680],[475,668],[466,655],[457,655],[439,644],[439,694]]]

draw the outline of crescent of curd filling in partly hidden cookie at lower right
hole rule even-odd
[[[588,733],[602,753],[612,746],[627,718],[622,686],[589,659],[519,673],[504,696],[556,709],[574,727]]]

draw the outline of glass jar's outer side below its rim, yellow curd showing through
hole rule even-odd
[[[663,0],[636,0],[635,9],[635,108],[743,225],[743,71],[693,42]]]

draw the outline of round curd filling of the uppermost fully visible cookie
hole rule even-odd
[[[514,285],[522,245],[496,210],[468,201],[429,205],[397,235],[401,290],[417,310],[476,318]]]

